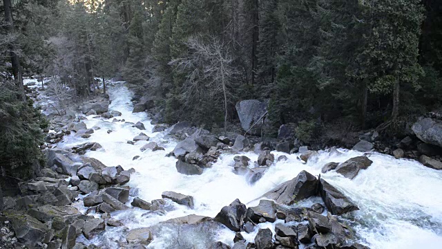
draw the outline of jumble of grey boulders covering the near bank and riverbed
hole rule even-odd
[[[260,180],[273,174],[276,165],[289,160],[291,154],[297,153],[296,160],[309,165],[321,155],[339,156],[342,153],[335,148],[316,151],[287,139],[218,136],[193,127],[189,122],[167,127],[154,120],[152,131],[146,131],[146,123],[119,118],[121,110],[111,110],[109,104],[106,98],[96,99],[81,104],[84,108],[66,116],[52,117],[44,148],[46,167],[34,180],[20,183],[17,196],[3,199],[5,210],[0,219],[3,222],[0,232],[2,227],[7,229],[2,235],[6,238],[4,248],[193,248],[197,241],[182,235],[193,233],[199,236],[197,248],[367,248],[355,242],[361,238],[348,220],[354,212],[367,207],[359,207],[345,194],[347,191],[342,191],[342,187],[338,190],[320,175],[310,174],[309,170],[300,171],[290,181],[267,189],[258,197],[260,201],[256,205],[236,199],[230,204],[225,203],[224,208],[213,216],[197,212],[133,228],[122,216],[124,212],[135,210],[147,217],[166,216],[177,206],[192,213],[201,204],[186,192],[164,191],[157,197],[161,199],[144,199],[140,192],[149,190],[128,185],[133,174],[137,174],[135,169],[126,169],[123,164],[108,166],[85,156],[90,151],[104,152],[106,146],[88,139],[95,132],[103,133],[103,127],[111,127],[110,124],[122,124],[139,132],[124,141],[127,146],[138,149],[139,155],[132,158],[134,162],[146,153],[164,151],[170,159],[175,158],[175,172],[186,175],[186,181],[190,182],[200,181],[199,177],[220,167],[218,161],[226,160],[229,155],[235,155],[231,157],[229,170],[253,186],[262,184]],[[133,112],[144,107],[135,105]],[[88,127],[86,117],[93,117],[104,125]],[[117,136],[118,132],[106,129],[108,136]],[[168,147],[158,140],[153,141],[152,135],[146,133],[162,133],[165,139],[178,142]],[[323,174],[335,172],[335,176],[354,181],[358,174],[373,167],[374,158],[370,151],[376,147],[374,135],[365,134],[354,147],[367,151],[366,154],[320,165]],[[59,149],[60,142],[66,139],[85,142]],[[415,146],[414,142],[405,141],[403,144],[407,148]],[[258,157],[251,159],[246,153]],[[313,203],[305,205],[307,200]],[[164,236],[168,229],[177,231],[177,241],[170,242],[169,246],[157,246],[155,238]],[[232,232],[231,239],[218,241],[215,234],[225,229]],[[112,239],[113,246],[100,240],[109,230],[118,231],[120,235]]]

